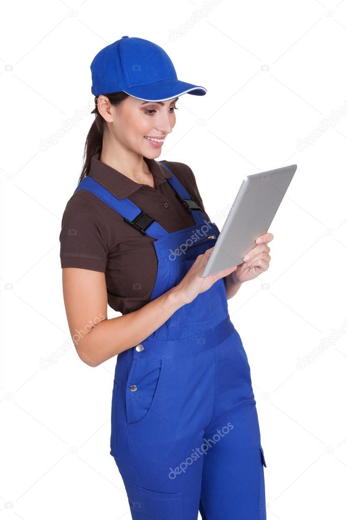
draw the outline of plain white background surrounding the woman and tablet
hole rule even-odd
[[[269,269],[229,310],[268,520],[346,518],[347,2],[6,2],[0,23],[0,520],[131,518],[109,454],[116,358],[91,369],[76,354],[59,259],[94,118],[89,66],[123,35],[157,43],[178,79],[208,90],[179,99],[159,160],[192,168],[211,218],[244,176],[298,164]]]

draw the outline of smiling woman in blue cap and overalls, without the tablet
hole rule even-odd
[[[63,294],[80,358],[118,355],[110,453],[132,518],[263,520],[258,415],[227,300],[268,268],[273,236],[202,278],[219,229],[189,166],[155,158],[178,97],[207,90],[177,80],[141,38],[105,47],[91,70],[95,121],[60,233]],[[122,316],[107,319],[107,303]]]

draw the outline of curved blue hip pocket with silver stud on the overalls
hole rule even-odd
[[[160,359],[133,358],[125,391],[126,422],[138,424],[148,417],[158,393]]]

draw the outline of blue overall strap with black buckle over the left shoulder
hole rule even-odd
[[[142,235],[149,235],[159,239],[169,234],[154,218],[140,210],[131,200],[114,197],[104,186],[97,183],[93,177],[88,175],[84,177],[74,192],[78,190],[87,190],[94,193],[102,202],[105,202],[112,210],[119,213],[123,217],[124,222],[133,226]]]

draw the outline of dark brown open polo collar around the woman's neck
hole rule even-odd
[[[134,180],[128,178],[118,170],[114,170],[108,164],[102,163],[99,160],[100,152],[92,155],[90,175],[97,183],[101,184],[108,191],[112,193],[118,199],[124,199],[131,193],[134,193],[140,188],[143,188],[143,184],[136,183]],[[155,159],[148,159],[144,157],[144,160],[148,164],[149,170],[152,173],[155,181],[155,188],[165,182],[166,179],[173,177],[173,175],[161,166]]]

